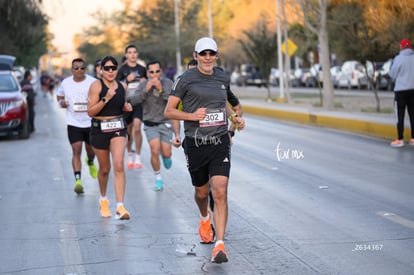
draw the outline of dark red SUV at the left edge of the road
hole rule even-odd
[[[14,56],[0,55],[0,135],[30,135],[26,96],[13,73]]]

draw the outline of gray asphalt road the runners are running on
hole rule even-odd
[[[42,97],[36,111],[30,139],[0,138],[0,274],[412,274],[414,147],[246,115],[230,261],[217,265],[199,243],[182,149],[155,192],[144,140],[144,168],[127,171],[131,220],[103,219],[87,167],[85,194],[72,191],[64,112]]]

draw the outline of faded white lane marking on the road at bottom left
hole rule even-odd
[[[62,221],[60,224],[60,251],[62,254],[64,274],[86,274],[82,265],[82,253],[73,221]]]

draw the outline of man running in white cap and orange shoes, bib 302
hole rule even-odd
[[[217,44],[212,38],[203,37],[196,42],[193,55],[198,61],[197,69],[187,70],[174,83],[165,116],[184,120],[183,148],[195,187],[195,201],[201,215],[199,235],[204,243],[213,242],[211,213],[208,211],[211,185],[217,239],[211,261],[222,263],[228,261],[223,242],[228,216],[227,186],[230,174],[227,119],[236,124],[239,130],[244,128],[244,120],[227,103],[230,79],[225,72],[214,68],[217,50]],[[177,109],[180,101],[182,111]]]

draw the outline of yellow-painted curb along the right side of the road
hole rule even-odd
[[[334,117],[324,114],[318,114],[316,112],[295,112],[288,110],[277,110],[256,106],[248,106],[244,104],[243,112],[247,114],[264,116],[284,121],[292,121],[301,124],[309,124],[321,127],[340,129],[389,140],[395,139],[397,131],[395,125],[353,118]],[[406,127],[405,133],[410,133],[410,128]]]

